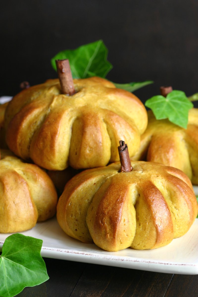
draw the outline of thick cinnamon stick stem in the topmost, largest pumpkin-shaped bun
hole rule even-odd
[[[69,60],[56,60],[56,67],[58,72],[58,78],[61,84],[62,93],[67,95],[75,94],[72,72],[69,66]]]

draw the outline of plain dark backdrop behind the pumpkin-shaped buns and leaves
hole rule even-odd
[[[198,1],[8,0],[1,3],[0,95],[56,78],[50,59],[102,39],[117,83],[153,80],[134,93],[145,102],[172,85],[198,92]]]

